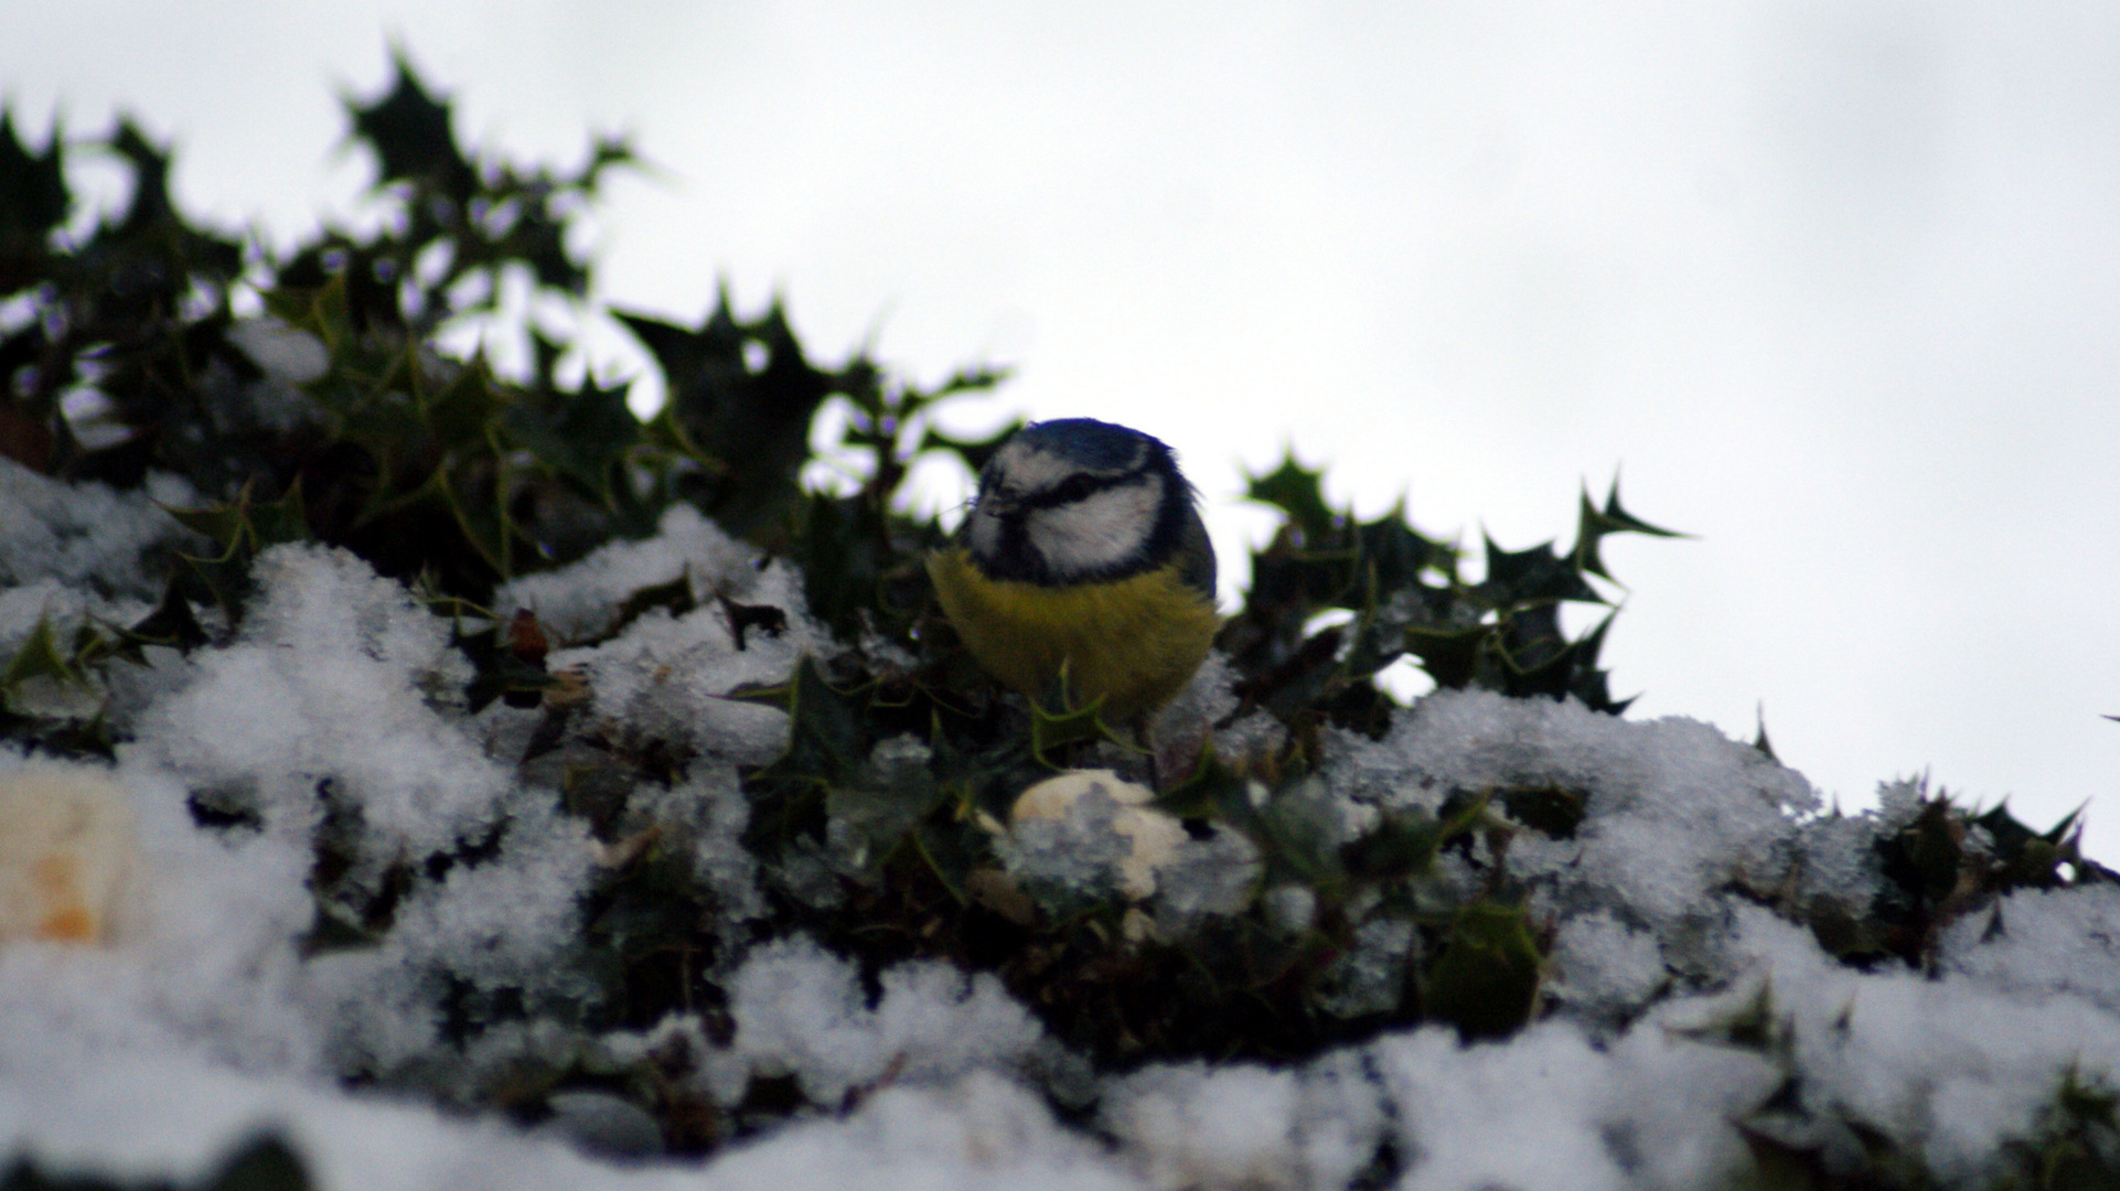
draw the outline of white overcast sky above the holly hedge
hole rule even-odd
[[[782,292],[820,358],[1018,369],[962,428],[1179,447],[1225,559],[1285,445],[1505,547],[1582,481],[1635,716],[1842,805],[1929,771],[2120,865],[2120,6],[0,0],[42,140],[138,112],[180,201],[356,210],[399,38],[473,144],[657,165],[606,299]],[[617,354],[606,367],[628,369]]]

